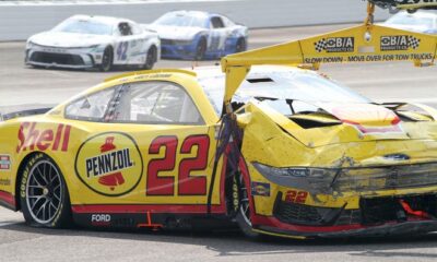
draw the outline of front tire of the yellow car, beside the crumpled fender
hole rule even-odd
[[[261,235],[253,231],[252,223],[250,221],[250,203],[248,190],[243,179],[243,175],[237,174],[234,176],[233,182],[233,203],[235,210],[235,222],[240,230],[249,238],[258,239]]]

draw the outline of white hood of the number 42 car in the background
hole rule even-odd
[[[32,36],[28,40],[40,46],[74,48],[106,45],[113,40],[113,36],[44,32]]]

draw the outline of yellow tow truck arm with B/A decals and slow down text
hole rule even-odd
[[[256,64],[300,64],[314,69],[321,63],[343,62],[414,61],[417,67],[434,64],[437,36],[375,25],[375,4],[369,2],[367,9],[368,16],[363,25],[224,57],[221,63],[226,73],[226,111],[232,112],[231,99],[250,67]]]

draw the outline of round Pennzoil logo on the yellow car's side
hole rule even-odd
[[[82,182],[110,196],[133,190],[142,170],[141,153],[133,139],[123,133],[103,133],[88,139],[75,159],[75,171]]]

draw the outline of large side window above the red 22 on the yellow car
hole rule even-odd
[[[117,95],[115,96],[117,97]],[[109,122],[202,124],[198,108],[187,92],[169,82],[123,85]]]

